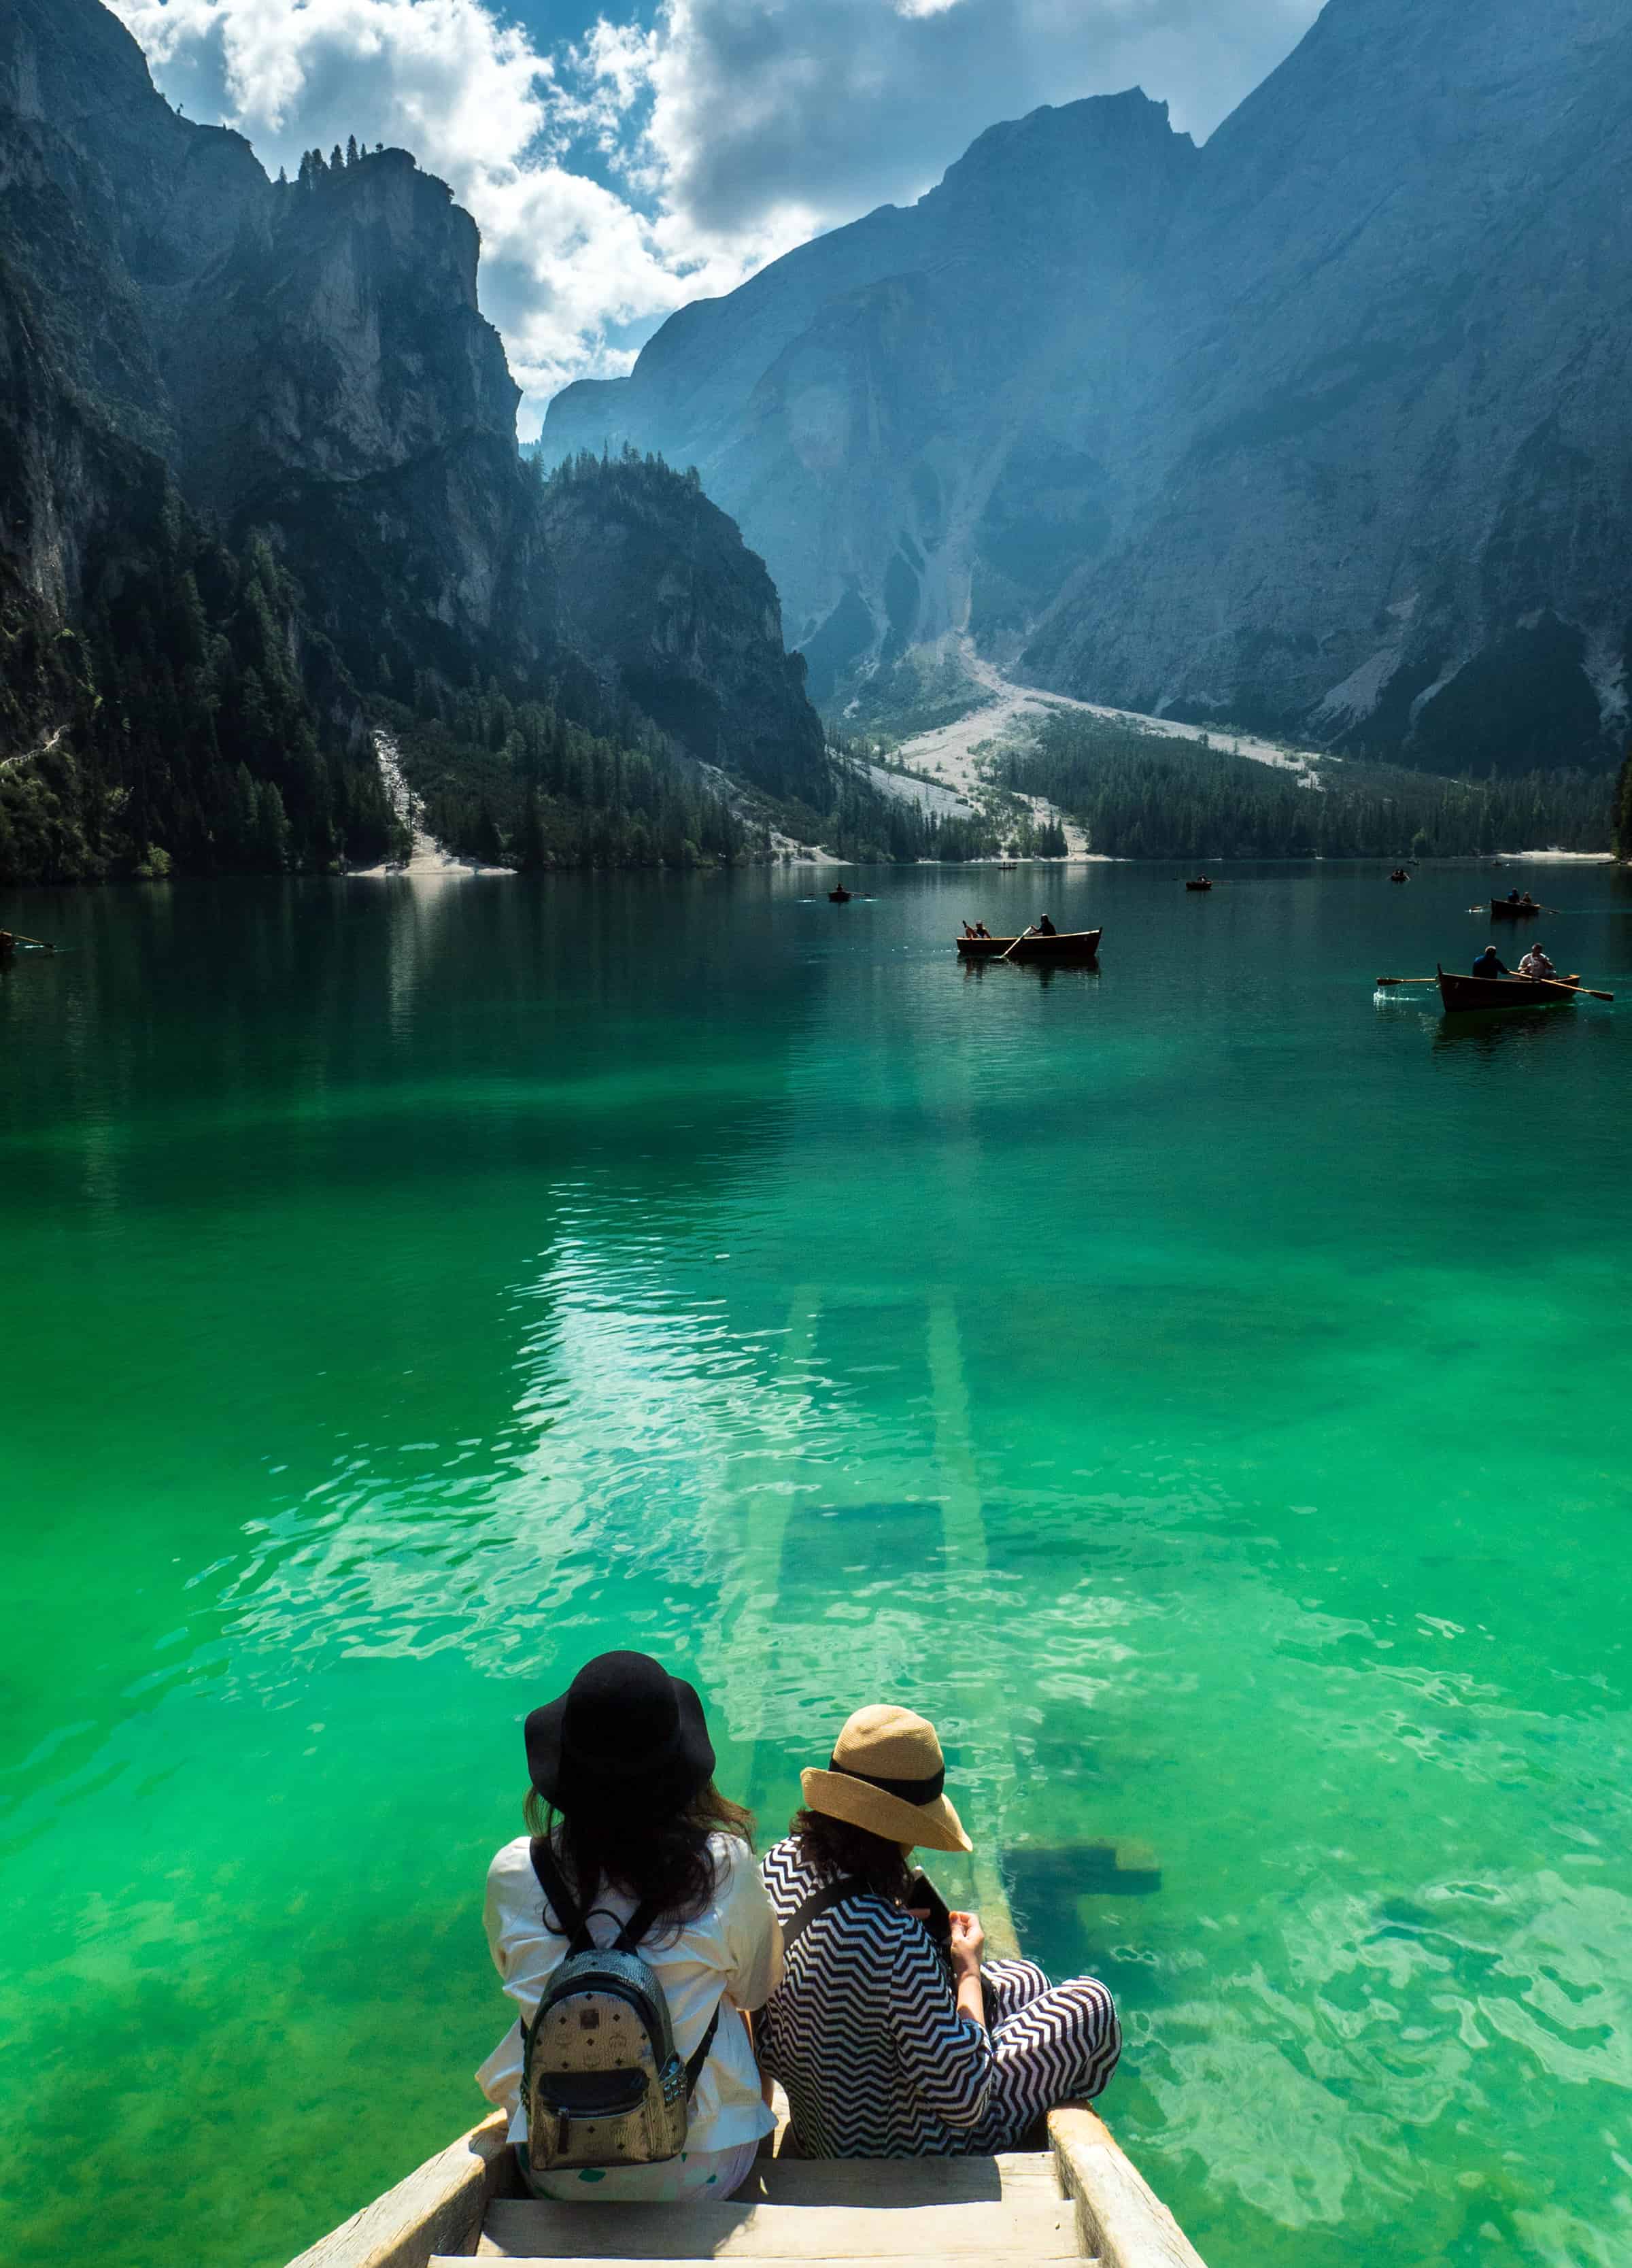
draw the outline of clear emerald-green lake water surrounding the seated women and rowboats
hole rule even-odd
[[[1025,873],[0,903],[14,2268],[274,2263],[478,2114],[607,1644],[771,1830],[938,1717],[1213,2268],[1625,2261],[1632,1002],[1374,1000],[1480,882],[1106,869],[1052,982],[947,950]]]

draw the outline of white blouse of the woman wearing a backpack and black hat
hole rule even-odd
[[[641,1946],[669,2000],[675,2048],[689,2057],[714,2014],[721,2009],[714,2046],[691,2096],[687,2150],[732,2150],[768,2134],[775,2118],[759,2096],[759,2068],[748,2028],[734,2009],[764,2007],[782,1982],[782,1926],[771,1912],[759,1867],[748,1844],[734,1835],[709,1835],[714,1857],[714,1896],[673,1937],[657,1926]],[[589,1928],[596,1944],[614,1935],[612,1919],[628,1921],[635,1898],[603,1889]],[[544,1892],[533,1873],[528,1837],[517,1835],[496,1853],[487,1869],[487,1946],[505,1994],[515,2000],[521,2023],[530,2023],[544,1987],[567,1957],[567,1939],[544,1928]],[[521,2030],[510,2025],[494,2053],[476,2073],[476,2084],[510,2112],[510,2141],[526,2141],[521,2107]]]

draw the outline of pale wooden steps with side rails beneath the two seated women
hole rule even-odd
[[[1204,2268],[1167,2207],[1086,2102],[1049,2112],[1036,2150],[1000,2157],[805,2159],[777,2093],[748,2182],[723,2204],[544,2204],[521,2195],[505,2114],[426,2159],[290,2268],[440,2261],[950,2261],[952,2268]]]

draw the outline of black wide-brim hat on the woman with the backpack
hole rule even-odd
[[[528,1776],[558,1812],[682,1812],[714,1778],[696,1685],[651,1653],[598,1653],[526,1721]]]

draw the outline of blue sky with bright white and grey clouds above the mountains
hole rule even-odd
[[[401,143],[483,229],[521,433],[675,306],[923,195],[1040,102],[1142,86],[1201,141],[1319,0],[111,0],[270,170]]]

